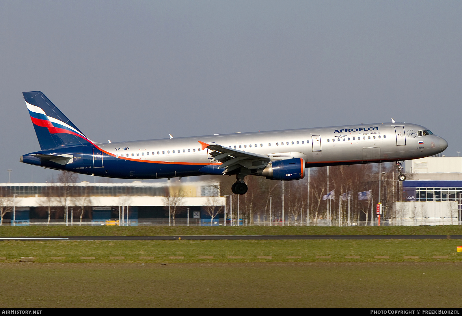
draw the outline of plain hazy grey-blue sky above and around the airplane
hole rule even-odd
[[[460,1],[1,1],[0,182],[54,174],[19,163],[40,150],[21,94],[36,90],[97,141],[393,117],[456,156],[461,16]]]

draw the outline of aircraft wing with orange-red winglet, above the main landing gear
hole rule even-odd
[[[221,145],[206,144],[199,141],[202,145],[202,150],[209,149],[209,155],[213,157],[211,162],[219,161],[222,164],[218,169],[223,169],[223,174],[235,170],[239,167],[248,169],[264,168],[272,160],[267,155],[260,155],[253,152],[243,152],[230,147],[223,147]]]

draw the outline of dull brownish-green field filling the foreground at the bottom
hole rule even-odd
[[[461,308],[454,262],[3,263],[3,308]]]

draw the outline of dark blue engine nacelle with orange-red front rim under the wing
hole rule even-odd
[[[305,176],[305,160],[292,158],[277,160],[269,163],[265,168],[257,171],[259,176],[266,176],[271,180],[298,180]]]

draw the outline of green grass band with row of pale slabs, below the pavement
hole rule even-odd
[[[305,262],[462,261],[457,239],[1,241],[0,262]],[[110,259],[109,257],[125,257]],[[154,257],[140,259],[140,256]],[[213,258],[199,258],[207,256]],[[243,258],[228,258],[241,256]],[[258,258],[267,256],[271,258]],[[287,257],[296,258],[287,258]],[[330,256],[330,258],[316,258]],[[359,256],[359,258],[345,258]],[[389,256],[387,259],[375,256]],[[419,256],[405,259],[404,256]],[[434,259],[433,256],[448,256]],[[53,259],[52,257],[65,257]],[[80,259],[95,257],[95,259]],[[169,258],[183,257],[183,258]]]

